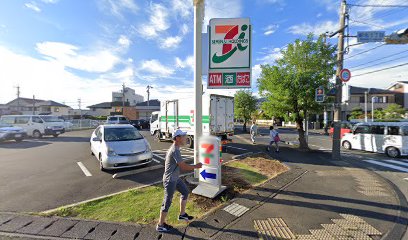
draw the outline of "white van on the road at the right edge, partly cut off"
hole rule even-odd
[[[341,139],[346,149],[385,153],[389,157],[408,155],[408,123],[358,123]]]

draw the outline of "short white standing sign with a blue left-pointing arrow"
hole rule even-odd
[[[221,140],[215,136],[203,136],[199,142],[200,169],[199,184],[194,194],[214,198],[226,189],[221,185]]]

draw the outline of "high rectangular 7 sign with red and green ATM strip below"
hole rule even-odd
[[[207,88],[251,87],[249,18],[210,20]]]

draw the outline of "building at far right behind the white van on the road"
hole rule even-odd
[[[365,109],[367,95],[367,112],[371,113],[372,107],[375,109],[385,109],[390,104],[404,105],[403,94],[387,89],[363,88],[349,86],[348,99],[342,104],[343,119],[347,119],[353,109]]]

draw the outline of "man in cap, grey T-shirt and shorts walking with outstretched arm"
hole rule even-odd
[[[160,219],[156,226],[158,232],[168,232],[172,226],[166,223],[167,213],[173,200],[174,192],[177,190],[181,193],[180,197],[180,215],[178,220],[190,221],[192,216],[186,213],[187,197],[189,189],[184,181],[180,178],[181,171],[191,171],[202,167],[202,163],[195,165],[187,164],[183,161],[180,153],[180,147],[186,144],[186,132],[180,129],[173,133],[173,144],[166,154],[166,161],[163,174],[164,198],[160,210]]]

